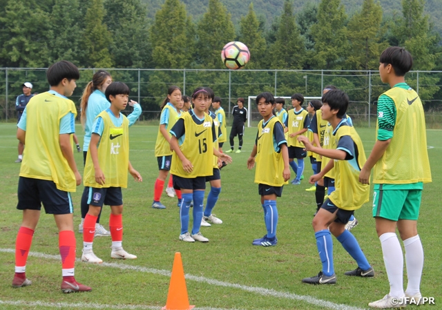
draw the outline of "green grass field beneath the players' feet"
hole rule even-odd
[[[179,241],[176,199],[164,193],[162,202],[167,209],[151,208],[157,177],[157,161],[153,155],[157,127],[136,125],[131,128],[131,162],[144,181],[137,184],[129,180],[128,188],[123,191],[123,244],[124,249],[138,255],[138,259],[111,260],[111,238],[95,238],[94,252],[104,263],[77,262],[75,266],[76,279],[93,287],[93,291],[63,294],[59,289],[61,262],[57,228],[53,217],[42,213],[26,269],[32,285],[12,289],[15,238],[21,223],[21,212],[15,209],[20,168],[14,163],[17,158],[15,132],[15,124],[0,124],[3,154],[0,157],[0,309],[160,309],[166,304],[175,252],[182,253],[189,300],[198,309],[367,309],[368,302],[388,293],[371,203],[356,211],[360,224],[352,233],[374,267],[375,278],[345,277],[343,273],[355,269],[356,263],[334,239],[338,283],[302,284],[302,278],[313,276],[321,269],[311,228],[314,193],[305,191],[311,186],[307,180],[300,186],[285,186],[278,199],[278,246],[251,246],[253,239],[265,234],[258,186],[253,184],[254,171],[246,167],[255,128],[246,129],[243,153],[233,153],[233,163],[222,170],[222,192],[213,212],[224,223],[201,228],[209,243]],[[77,132],[82,133],[80,126]],[[358,128],[358,133],[368,156],[374,145],[374,129]],[[425,252],[421,292],[423,296],[436,298],[436,304],[419,309],[442,309],[439,273],[442,267],[439,243],[442,165],[437,160],[442,150],[441,137],[441,130],[427,131],[433,182],[425,185],[419,219]],[[75,153],[75,158],[82,171],[82,154]],[[311,175],[309,163],[304,175],[306,179]],[[77,258],[81,257],[82,249],[82,235],[77,233],[82,190],[83,186],[79,186],[73,195]],[[101,220],[104,226],[108,225],[108,215],[109,208],[105,206]]]

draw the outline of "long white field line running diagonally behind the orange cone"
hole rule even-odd
[[[0,249],[0,252],[15,253],[15,249]],[[37,258],[60,260],[59,255],[49,255],[49,254],[37,253],[37,252],[29,252],[29,255],[37,257]],[[80,262],[79,258],[77,258],[77,262]],[[113,268],[122,269],[122,270],[133,270],[133,271],[138,271],[138,272],[153,273],[153,274],[157,274],[157,275],[164,275],[167,277],[171,276],[171,271],[167,271],[167,270],[153,269],[153,268],[146,268],[146,267],[139,267],[139,266],[131,266],[131,265],[126,265],[126,264],[117,264],[117,263],[113,263],[113,262],[103,262],[102,264],[98,265],[98,267],[100,267],[100,266],[113,267]],[[348,306],[346,304],[336,304],[334,302],[329,302],[327,300],[320,300],[318,298],[314,298],[311,296],[276,291],[274,289],[265,289],[263,287],[249,287],[247,285],[242,285],[242,284],[222,282],[222,281],[213,280],[213,279],[209,279],[209,278],[199,277],[197,275],[190,275],[189,273],[186,274],[185,277],[187,280],[193,280],[196,282],[207,283],[207,284],[215,285],[217,287],[231,287],[233,289],[241,289],[242,291],[249,291],[251,293],[257,293],[262,296],[272,296],[272,297],[276,297],[276,298],[300,300],[303,302],[307,302],[309,304],[314,304],[316,306],[326,307],[326,308],[333,309],[333,310],[363,310],[363,308],[352,307],[352,306]]]

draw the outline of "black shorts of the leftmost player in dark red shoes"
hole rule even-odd
[[[74,212],[70,193],[60,191],[52,181],[19,177],[18,197],[19,210],[41,210],[43,203],[44,211],[48,214]]]

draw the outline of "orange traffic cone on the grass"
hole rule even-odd
[[[190,310],[194,307],[189,305],[181,253],[177,252],[173,260],[171,284],[169,285],[166,306],[162,307],[162,310]]]

